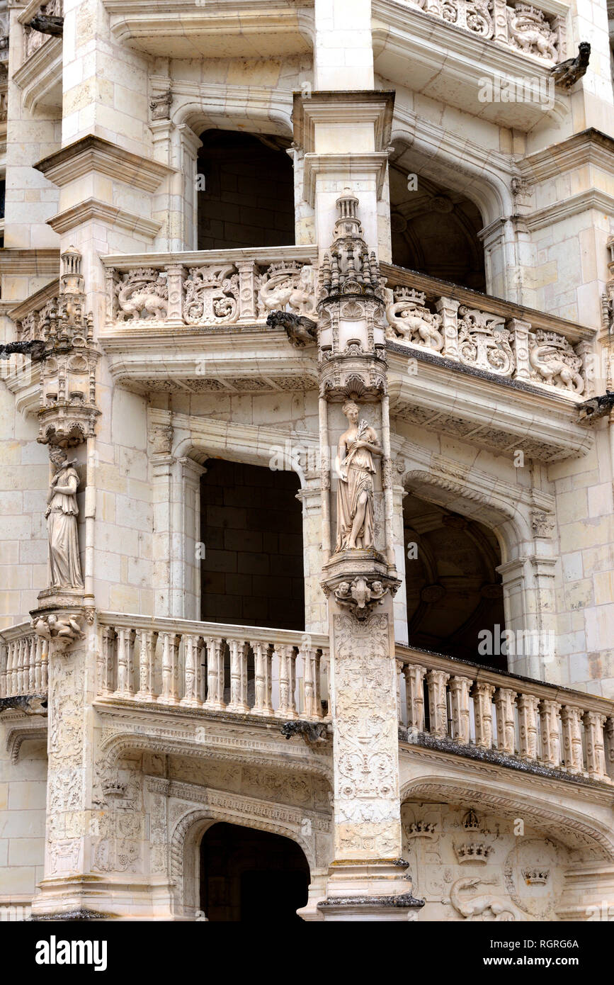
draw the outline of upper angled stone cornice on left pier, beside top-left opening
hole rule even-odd
[[[153,192],[165,177],[176,173],[174,167],[133,154],[92,135],[82,137],[32,166],[60,188],[95,171],[108,174],[132,187]]]

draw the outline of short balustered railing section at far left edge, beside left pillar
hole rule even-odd
[[[0,632],[0,698],[46,693],[47,666],[48,642],[30,623]]]

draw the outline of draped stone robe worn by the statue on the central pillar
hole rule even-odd
[[[362,492],[367,493],[367,501],[364,524],[356,537],[356,547],[373,547],[375,526],[373,476],[375,475],[375,465],[368,448],[356,447],[358,441],[367,440],[365,434],[369,429],[366,423],[361,421],[356,437],[345,446],[345,458],[341,462],[341,468],[347,475],[347,482],[344,483],[339,479],[338,483],[337,551],[344,551],[347,548],[358,507],[358,497]]]

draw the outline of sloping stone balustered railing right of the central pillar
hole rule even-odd
[[[411,647],[397,663],[408,742],[614,782],[613,701]]]

